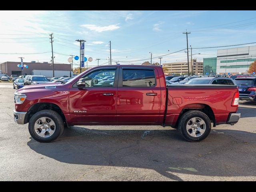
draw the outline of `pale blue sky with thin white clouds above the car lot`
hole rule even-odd
[[[110,40],[113,64],[141,64],[150,61],[149,52],[159,57],[186,48],[186,30],[192,48],[255,42],[256,11],[1,11],[0,28],[0,62],[21,56],[50,62],[53,33],[56,63],[79,56],[75,40],[84,39],[85,56],[93,58],[89,66],[97,65],[96,58],[108,64]],[[215,57],[217,49],[194,49],[193,58]],[[186,53],[163,56],[162,63],[176,60],[186,60]]]

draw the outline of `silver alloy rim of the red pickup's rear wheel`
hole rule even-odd
[[[188,134],[190,134],[190,136],[200,137],[204,134],[206,130],[206,123],[199,117],[193,117],[188,120],[186,130]]]

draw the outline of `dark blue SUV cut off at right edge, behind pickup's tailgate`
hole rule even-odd
[[[236,78],[240,100],[256,101],[256,77]]]

